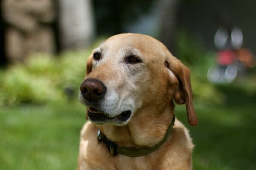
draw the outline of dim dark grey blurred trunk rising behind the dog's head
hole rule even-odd
[[[160,36],[164,45],[175,54],[175,34],[179,0],[160,0]]]

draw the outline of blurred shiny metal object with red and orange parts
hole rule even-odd
[[[209,68],[207,78],[214,83],[233,82],[243,77],[247,68],[256,65],[254,55],[243,45],[243,33],[240,28],[220,27],[214,36],[214,44],[218,49],[217,65]]]

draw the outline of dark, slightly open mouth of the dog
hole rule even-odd
[[[131,110],[123,111],[115,117],[109,117],[104,112],[98,111],[96,108],[88,108],[88,117],[93,122],[106,122],[112,119],[118,119],[120,122],[125,122],[131,116]]]

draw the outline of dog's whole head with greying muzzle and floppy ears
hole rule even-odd
[[[194,111],[190,71],[158,40],[142,34],[110,37],[87,60],[79,100],[96,124],[126,125],[141,108],[163,111],[186,103],[190,125]]]

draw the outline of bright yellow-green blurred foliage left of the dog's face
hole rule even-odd
[[[77,96],[90,51],[34,54],[0,72],[0,105],[63,102]],[[66,95],[65,95],[66,92]]]

